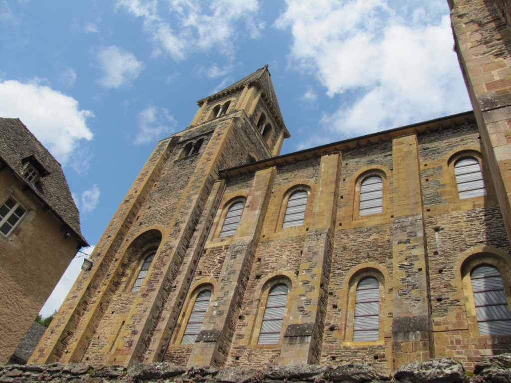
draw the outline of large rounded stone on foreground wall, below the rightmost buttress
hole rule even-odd
[[[412,383],[455,383],[468,381],[463,366],[449,358],[406,363],[394,374],[396,380]]]

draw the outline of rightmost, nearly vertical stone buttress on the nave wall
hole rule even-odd
[[[416,136],[392,140],[393,366],[432,356],[426,242]]]

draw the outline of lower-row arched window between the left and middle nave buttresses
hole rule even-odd
[[[287,284],[273,286],[268,294],[258,344],[278,344],[288,296]]]

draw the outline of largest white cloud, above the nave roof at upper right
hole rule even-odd
[[[291,30],[291,62],[342,96],[324,125],[353,136],[470,109],[447,6],[412,3],[287,1],[275,25]]]

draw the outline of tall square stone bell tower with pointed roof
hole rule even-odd
[[[223,194],[222,169],[278,155],[289,132],[268,65],[198,102],[159,141],[29,363],[161,361]]]

